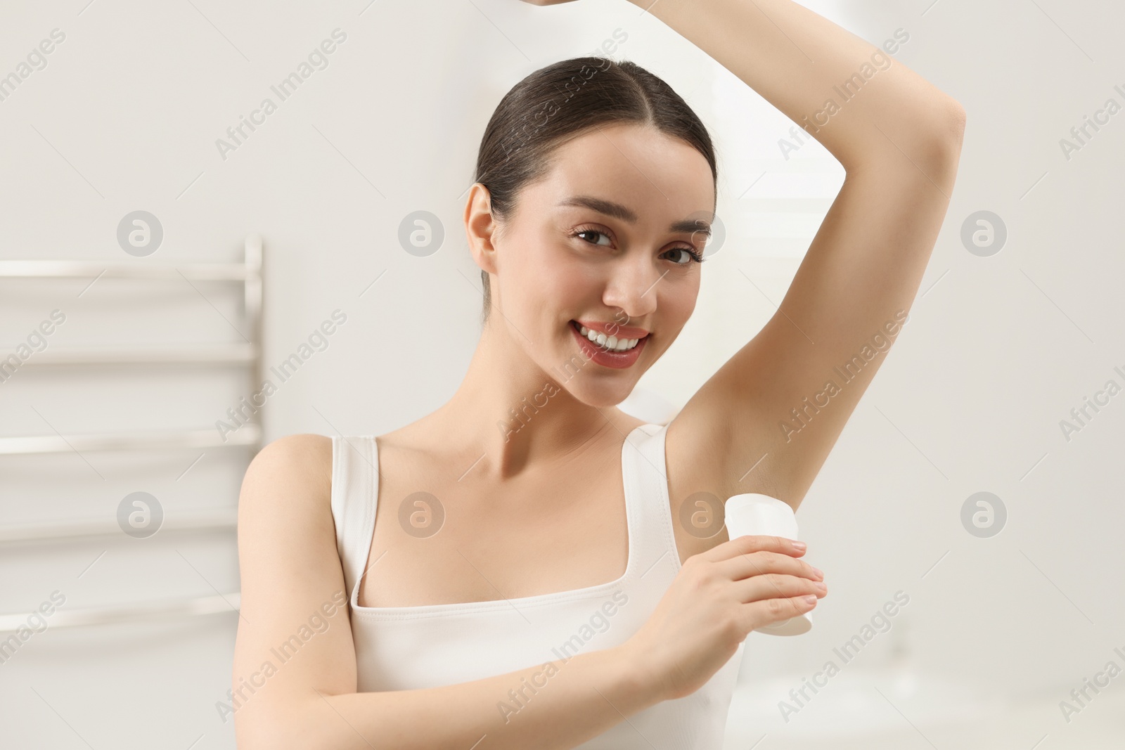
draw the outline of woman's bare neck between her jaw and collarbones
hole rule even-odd
[[[573,460],[603,440],[619,441],[638,422],[615,406],[584,404],[564,388],[570,378],[583,377],[574,364],[596,365],[579,359],[569,369],[560,362],[547,371],[529,355],[531,346],[497,323],[494,313],[465,380],[433,413],[439,434],[449,435],[457,453],[474,457],[466,475],[512,479],[533,467]]]

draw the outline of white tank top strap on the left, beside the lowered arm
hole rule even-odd
[[[352,604],[375,525],[377,461],[375,435],[333,435],[332,521],[348,600]]]

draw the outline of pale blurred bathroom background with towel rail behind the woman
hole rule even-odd
[[[804,4],[893,47],[968,130],[909,323],[798,514],[831,596],[810,633],[747,639],[726,747],[1125,747],[1125,9]],[[630,399],[647,415],[770,318],[844,180],[659,20],[0,7],[0,744],[234,748],[248,462],[449,398],[479,335],[461,214],[485,124],[606,40],[720,159],[724,237]]]

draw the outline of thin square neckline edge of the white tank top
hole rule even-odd
[[[655,437],[662,430],[666,428],[668,425],[659,425],[646,423],[637,425],[633,427],[628,435],[626,435],[624,442],[621,444],[621,485],[624,493],[626,499],[626,533],[628,535],[628,560],[626,561],[626,571],[620,578],[615,580],[608,581],[605,584],[595,584],[593,586],[586,586],[583,588],[573,588],[565,591],[549,591],[547,594],[536,594],[532,596],[520,596],[515,598],[506,599],[485,599],[483,602],[447,602],[441,604],[417,604],[408,606],[394,606],[394,607],[369,607],[361,606],[358,604],[359,600],[359,585],[362,581],[362,573],[360,578],[357,579],[356,584],[352,586],[351,596],[348,597],[348,604],[353,614],[360,617],[369,618],[394,618],[396,615],[411,617],[414,615],[442,615],[442,614],[459,614],[466,612],[488,612],[495,609],[510,609],[514,608],[519,612],[521,606],[523,607],[536,607],[543,606],[548,604],[560,604],[564,602],[570,602],[575,599],[592,599],[601,596],[609,595],[613,589],[627,586],[632,582],[637,572],[637,528],[640,525],[634,523],[639,522],[636,517],[637,510],[639,509],[638,498],[633,497],[636,491],[631,491],[630,478],[633,477],[629,462],[626,461],[626,449],[630,445],[630,439],[633,434],[641,430],[642,427],[657,427],[652,432],[646,432],[648,437]],[[379,443],[374,436],[371,436],[371,466],[379,466]],[[639,450],[633,445],[633,450]],[[664,458],[664,457],[662,457]],[[665,459],[664,476],[667,477],[667,460]],[[372,473],[372,488],[371,494],[375,497],[375,501],[378,501],[379,493],[379,473],[376,471]],[[665,486],[666,487],[666,486]],[[666,490],[664,494],[666,495]],[[368,514],[364,513],[364,517]],[[366,525],[364,533],[367,535],[367,545],[363,550],[363,564],[367,564],[367,560],[371,555],[371,543],[375,541],[375,514],[370,514],[370,523]],[[364,571],[366,572],[366,571]]]

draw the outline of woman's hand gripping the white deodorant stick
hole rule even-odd
[[[824,576],[796,559],[802,554],[781,536],[737,536],[693,554],[620,648],[659,686],[662,699],[691,695],[750,631],[809,612],[827,594]]]

